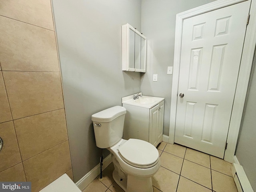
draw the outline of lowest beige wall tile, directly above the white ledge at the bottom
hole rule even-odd
[[[25,160],[23,165],[32,192],[38,192],[72,168],[68,141]]]

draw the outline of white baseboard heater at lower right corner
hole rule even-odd
[[[241,165],[233,163],[232,175],[238,192],[254,192]]]

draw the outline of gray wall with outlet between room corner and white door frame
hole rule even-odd
[[[164,134],[169,135],[176,14],[214,0],[142,0],[142,33],[148,38],[147,68],[141,78],[144,95],[165,98]],[[158,81],[153,82],[153,74]]]

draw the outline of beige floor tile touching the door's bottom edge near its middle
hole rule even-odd
[[[205,154],[203,152],[187,148],[184,159],[200,164],[202,166],[211,168],[210,155]]]

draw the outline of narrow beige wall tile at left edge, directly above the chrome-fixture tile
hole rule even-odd
[[[0,72],[0,123],[12,120],[12,114],[7,98],[4,79]]]

